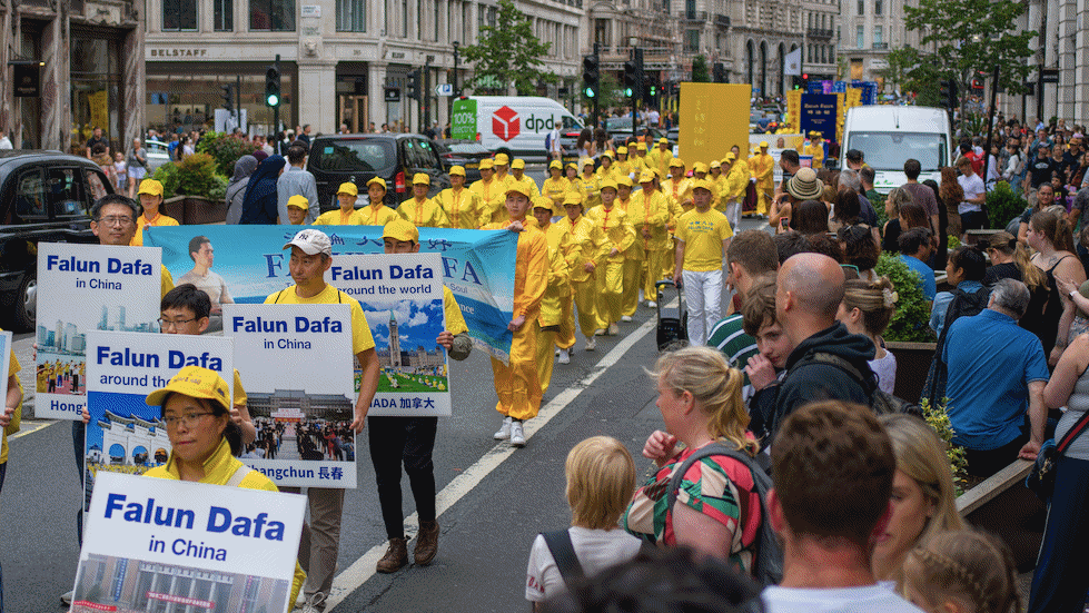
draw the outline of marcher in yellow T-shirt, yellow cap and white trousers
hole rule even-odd
[[[706,345],[707,330],[722,318],[722,259],[733,236],[726,217],[711,209],[711,189],[706,180],[695,181],[695,208],[682,215],[676,227],[673,283],[684,289],[692,345]]]

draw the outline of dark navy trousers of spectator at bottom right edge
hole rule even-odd
[[[1081,613],[1089,575],[1089,462],[1060,457],[1043,544],[1032,575],[1029,613]]]

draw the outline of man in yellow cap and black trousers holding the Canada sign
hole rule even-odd
[[[382,231],[385,254],[419,253],[419,230],[407,219],[394,219]],[[454,294],[443,286],[443,312],[446,329],[435,343],[442,345],[449,357],[462,360],[473,350],[468,327]],[[400,506],[400,465],[404,463],[416,501],[419,533],[413,557],[417,565],[426,566],[438,553],[438,522],[435,520],[435,434],[438,417],[380,416],[367,419],[370,425],[370,463],[375,467],[378,486],[378,505],[386,525],[389,547],[378,561],[379,573],[392,573],[408,564],[408,545],[405,538],[404,511]]]

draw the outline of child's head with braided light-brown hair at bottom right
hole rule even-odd
[[[923,611],[1021,611],[1013,555],[997,538],[968,530],[943,532],[908,554],[900,591]]]

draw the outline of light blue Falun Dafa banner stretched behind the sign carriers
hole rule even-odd
[[[329,235],[335,256],[383,253],[382,226],[318,228]],[[149,227],[143,233],[143,244],[162,248],[162,265],[176,281],[191,278],[197,268],[195,256],[189,253],[190,245],[210,244],[214,259],[201,278],[215,274],[229,300],[253,304],[264,303],[268,295],[294,284],[288,269],[290,251],[284,245],[299,229],[296,226]],[[199,249],[200,245],[195,247]],[[508,359],[507,324],[514,317],[518,236],[507,230],[419,228],[419,250],[442,255],[443,283],[457,299],[474,343],[499,359]]]

